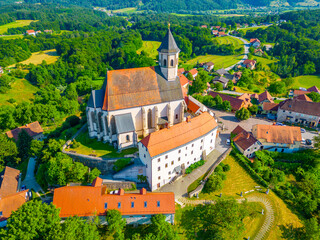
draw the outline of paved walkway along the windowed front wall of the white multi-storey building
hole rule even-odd
[[[208,159],[204,165],[201,167],[198,167],[197,169],[193,170],[192,173],[187,174],[180,179],[176,180],[173,183],[168,183],[164,185],[162,188],[160,188],[159,192],[174,192],[176,201],[180,200],[183,197],[188,197],[188,187],[191,183],[193,183],[195,180],[200,178],[202,175],[204,175],[208,169],[211,167],[211,165],[217,161],[221,153],[217,150],[212,151],[208,155]]]

